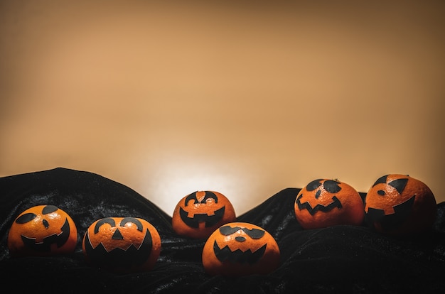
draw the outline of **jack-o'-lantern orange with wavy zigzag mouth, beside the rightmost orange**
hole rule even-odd
[[[363,200],[350,185],[318,179],[303,187],[294,204],[296,219],[304,229],[363,222]]]

